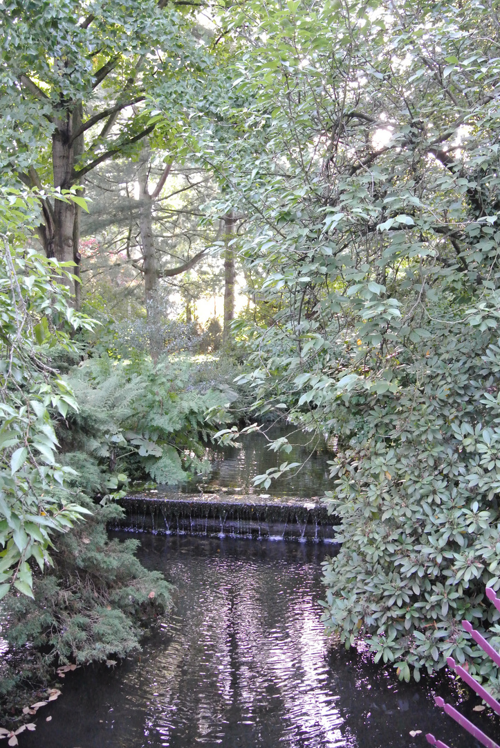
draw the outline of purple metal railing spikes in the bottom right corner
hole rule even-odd
[[[497,598],[493,589],[487,587],[486,596],[488,600],[490,600],[490,602],[492,602],[496,607],[496,610],[500,611],[500,599]],[[500,667],[500,654],[496,652],[496,650],[493,649],[490,644],[487,643],[487,640],[482,637],[481,634],[478,633],[478,631],[475,631],[472,628],[472,625],[469,623],[469,621],[463,621],[462,625],[463,628],[472,636],[472,639],[478,643],[478,645],[481,647],[481,649],[484,650],[484,652],[486,652],[488,657],[490,657],[493,662]],[[469,675],[465,668],[457,665],[453,657],[448,657],[446,662],[448,663],[448,667],[454,670],[457,675],[460,675],[460,678],[462,678],[462,680],[465,681],[468,686],[475,690],[478,696],[481,696],[481,699],[487,702],[487,704],[490,705],[490,707],[494,709],[497,714],[500,714],[499,702],[496,699],[493,699],[493,696],[488,693],[487,690],[485,690],[481,686],[481,684],[478,683],[478,681],[475,681],[475,679],[472,678],[472,675]],[[442,699],[441,696],[434,696],[434,701],[438,706],[445,710],[446,714],[449,714],[449,716],[452,717],[455,722],[466,729],[466,731],[469,732],[473,738],[479,741],[486,748],[500,748],[498,743],[493,741],[491,738],[488,738],[488,736],[485,735],[482,730],[473,725],[472,722],[469,722],[466,717],[463,717],[463,714],[460,714],[460,712],[452,707],[451,704],[446,704],[445,700]],[[442,741],[436,740],[436,738],[434,738],[434,736],[431,735],[430,732],[425,737],[427,738],[428,743],[430,743],[430,745],[432,746],[436,746],[436,748],[449,748]]]

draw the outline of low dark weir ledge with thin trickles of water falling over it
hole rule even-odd
[[[242,536],[336,542],[335,515],[318,499],[236,494],[161,494],[142,491],[120,499],[126,510],[112,529],[160,535]]]

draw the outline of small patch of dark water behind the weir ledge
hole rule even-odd
[[[291,426],[265,427],[264,434],[253,433],[241,437],[241,449],[236,447],[209,448],[207,458],[212,462],[212,476],[204,482],[205,488],[222,486],[237,488],[243,493],[271,494],[271,496],[321,497],[331,488],[328,461],[334,453],[321,438],[297,432]],[[288,438],[291,453],[276,453],[269,449],[269,440]],[[273,480],[268,488],[254,488],[253,478],[282,462],[299,462],[294,468]],[[187,488],[187,490],[192,489]]]

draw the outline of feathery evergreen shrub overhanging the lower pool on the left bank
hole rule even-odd
[[[135,557],[139,542],[108,539],[106,523],[123,509],[81,502],[93,515],[58,537],[55,565],[34,580],[34,599],[10,593],[2,602],[9,645],[0,664],[4,729],[31,720],[25,705],[49,698],[49,684],[75,666],[114,664],[139,652],[146,627],[170,608],[170,585]]]

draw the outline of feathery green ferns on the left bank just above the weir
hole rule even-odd
[[[57,430],[61,459],[78,471],[75,482],[105,495],[129,479],[176,485],[209,472],[201,440],[209,440],[237,394],[216,372],[207,374],[206,363],[182,357],[157,364],[102,357],[71,370],[67,382],[79,408]]]

